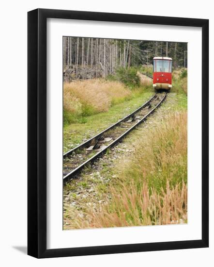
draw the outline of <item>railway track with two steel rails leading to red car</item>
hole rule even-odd
[[[155,93],[137,110],[63,155],[63,181],[76,177],[84,167],[121,142],[128,133],[144,122],[166,99],[167,92]]]

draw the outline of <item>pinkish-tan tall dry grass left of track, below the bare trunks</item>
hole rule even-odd
[[[63,107],[73,117],[106,112],[115,103],[131,97],[131,91],[120,82],[101,79],[64,83]]]

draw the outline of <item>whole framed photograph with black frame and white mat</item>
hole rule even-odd
[[[209,21],[28,13],[28,254],[209,246]]]

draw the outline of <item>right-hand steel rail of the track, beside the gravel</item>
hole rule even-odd
[[[135,129],[140,123],[144,122],[149,115],[151,115],[154,110],[160,106],[160,104],[166,99],[167,97],[167,92],[164,94],[164,97],[158,102],[158,104],[147,114],[145,115],[142,119],[140,119],[136,124],[134,124],[132,127],[130,127],[126,132],[124,132],[122,135],[120,135],[117,139],[115,139],[112,143],[110,143],[106,148],[103,150],[97,152],[95,155],[93,155],[91,158],[89,158],[87,161],[76,167],[74,170],[72,170],[70,173],[65,175],[63,177],[63,181],[66,182],[69,179],[74,178],[79,172],[87,166],[87,164],[94,162],[97,158],[99,158],[102,154],[104,154],[109,148],[115,146],[118,142],[122,140],[122,138],[125,137],[129,132],[131,132],[133,129]]]

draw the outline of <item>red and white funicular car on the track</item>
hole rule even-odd
[[[153,87],[157,90],[169,90],[172,87],[172,59],[170,57],[153,58]]]

